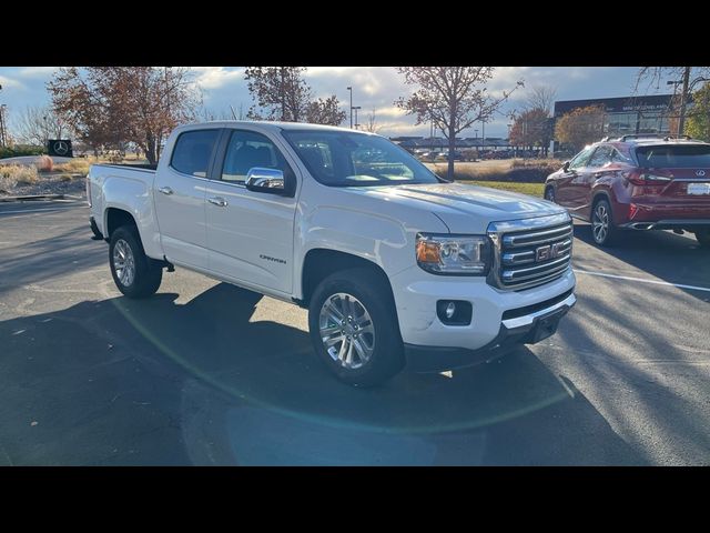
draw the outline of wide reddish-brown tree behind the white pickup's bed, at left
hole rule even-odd
[[[152,164],[164,138],[202,103],[190,69],[176,67],[62,68],[48,90],[57,114],[94,152],[133,142]]]

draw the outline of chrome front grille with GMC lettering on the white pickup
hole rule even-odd
[[[521,290],[561,276],[570,266],[572,223],[568,214],[513,222],[495,222],[488,229],[494,242],[494,269],[489,283]]]

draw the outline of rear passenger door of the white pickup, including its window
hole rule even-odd
[[[155,175],[155,213],[168,260],[205,269],[207,171],[221,130],[191,130],[175,141],[171,160]]]

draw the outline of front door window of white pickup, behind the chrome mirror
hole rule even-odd
[[[278,169],[284,174],[291,171],[281,151],[267,137],[253,131],[234,130],[224,154],[222,180],[244,183],[247,172],[254,167]]]

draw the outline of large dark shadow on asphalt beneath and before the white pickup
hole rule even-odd
[[[305,331],[254,319],[261,295],[176,298],[0,322],[0,464],[645,463],[526,348],[358,390]]]

